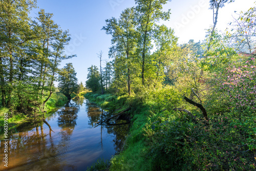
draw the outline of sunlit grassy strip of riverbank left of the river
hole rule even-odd
[[[30,116],[26,114],[13,114],[6,108],[0,109],[0,135],[3,134],[3,129],[4,129],[4,114],[8,113],[9,118],[8,118],[8,129],[12,130],[15,126],[18,126],[19,124],[24,124],[31,120],[34,117],[37,116],[42,116],[42,115],[47,115],[51,110],[54,108],[57,108],[58,106],[63,106],[68,102],[68,98],[60,93],[60,92],[55,92],[52,94],[51,98],[47,101],[45,105],[45,111],[39,112],[37,114],[32,114]],[[11,117],[10,117],[11,116]]]

